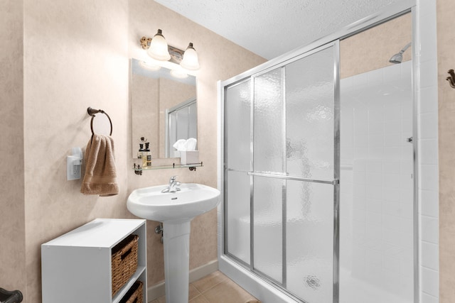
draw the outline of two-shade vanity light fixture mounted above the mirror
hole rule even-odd
[[[189,43],[188,48],[183,52],[166,43],[161,29],[154,35],[154,38],[142,37],[141,46],[147,50],[147,55],[156,60],[155,65],[168,67],[179,74],[199,69],[198,53],[196,53],[193,43]]]

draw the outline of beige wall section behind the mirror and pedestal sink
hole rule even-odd
[[[154,170],[134,175],[129,170],[129,190],[168,182],[178,175],[182,182],[198,182],[217,186],[217,86],[218,79],[228,79],[249,70],[265,60],[202,26],[164,8],[153,0],[129,1],[129,57],[141,59],[146,54],[139,45],[143,35],[152,37],[163,30],[169,45],[185,50],[193,42],[200,61],[198,82],[198,148],[204,167],[196,172],[188,169]],[[134,161],[131,160],[131,166]],[[156,161],[155,162],[159,162]],[[166,160],[164,161],[166,162]],[[149,285],[164,280],[163,246],[154,233],[157,223],[147,222]],[[190,268],[217,258],[216,210],[198,216],[191,222]]]

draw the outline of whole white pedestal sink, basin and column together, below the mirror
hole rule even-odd
[[[163,222],[166,303],[188,303],[190,221],[220,203],[220,191],[203,184],[184,183],[178,192],[167,185],[135,189],[128,210],[142,219]]]

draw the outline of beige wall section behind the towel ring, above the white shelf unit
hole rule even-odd
[[[129,217],[127,11],[127,0],[24,1],[26,302],[41,302],[41,243],[97,217]],[[91,136],[88,106],[114,124],[114,197],[84,196],[80,180],[66,180],[66,156]]]

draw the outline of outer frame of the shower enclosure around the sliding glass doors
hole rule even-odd
[[[224,142],[224,132],[225,132],[225,87],[230,86],[232,84],[244,82],[247,79],[252,79],[253,75],[259,74],[264,72],[265,70],[272,70],[273,67],[279,67],[284,65],[284,62],[290,62],[294,60],[296,57],[304,56],[306,53],[312,53],[314,50],[323,47],[323,45],[328,45],[329,43],[334,43],[335,41],[343,40],[344,38],[348,38],[356,33],[360,33],[361,31],[365,31],[368,28],[372,28],[377,26],[380,23],[385,23],[397,16],[401,16],[405,13],[412,13],[412,40],[414,42],[418,41],[417,35],[417,13],[415,11],[416,0],[407,0],[403,1],[399,4],[393,4],[387,6],[384,10],[379,11],[378,13],[374,13],[373,15],[367,16],[365,18],[356,21],[355,23],[350,24],[346,28],[341,29],[336,33],[328,35],[326,37],[320,38],[319,40],[310,43],[309,45],[304,46],[303,48],[299,48],[293,50],[289,53],[281,55],[279,57],[274,58],[273,60],[269,60],[262,65],[254,67],[252,70],[248,70],[247,72],[243,72],[240,75],[232,77],[228,80],[223,82],[218,82],[218,100],[219,100],[219,116],[218,116],[218,163],[219,163],[219,177],[218,177],[218,188],[222,192],[222,197],[225,194],[224,183],[225,180],[225,142]],[[419,213],[418,213],[418,170],[417,170],[417,97],[416,92],[418,88],[417,77],[418,77],[418,60],[417,60],[417,43],[412,43],[412,53],[413,53],[413,63],[412,63],[412,99],[413,99],[413,154],[414,154],[414,302],[419,302]],[[339,58],[338,58],[339,60]],[[339,87],[339,77],[338,83],[336,86]],[[338,92],[339,97],[339,92]],[[339,136],[339,133],[338,133]],[[339,150],[338,150],[339,155]],[[339,164],[339,162],[338,162]],[[339,165],[338,165],[339,169]],[[339,177],[339,175],[338,175]],[[339,187],[338,187],[339,191]],[[338,192],[339,195],[339,192]],[[252,270],[245,269],[244,266],[232,263],[232,259],[229,255],[225,255],[225,214],[224,214],[224,199],[220,204],[220,210],[218,213],[218,222],[221,222],[219,226],[218,232],[218,262],[219,268],[222,272],[225,272],[228,276],[232,277],[236,275],[234,280],[236,282],[247,282],[250,280],[250,277],[258,277],[259,280],[255,281],[257,284],[253,285],[252,287],[244,287],[247,291],[251,292],[253,295],[262,294],[267,296],[267,299],[272,298],[271,302],[290,302],[289,300],[292,299],[293,302],[300,302],[295,300],[296,298],[289,297],[288,293],[284,293],[282,290],[276,287],[273,282],[262,280],[261,275],[258,275],[257,272],[253,272]],[[339,205],[339,199],[338,199]],[[334,216],[338,216],[338,214],[334,214]],[[335,227],[335,226],[334,226]],[[339,241],[339,236],[337,236]],[[334,239],[335,241],[335,239]],[[339,246],[338,246],[339,247]],[[334,249],[335,250],[335,249]],[[339,270],[339,254],[334,252],[333,266],[337,267]],[[335,260],[336,259],[336,260]],[[234,259],[236,260],[236,259]],[[335,285],[338,286],[338,275],[334,275],[333,285],[335,290]],[[272,285],[272,288],[267,288],[268,285]],[[267,289],[260,289],[259,287],[266,287]],[[338,302],[339,293],[333,292],[333,302]]]

